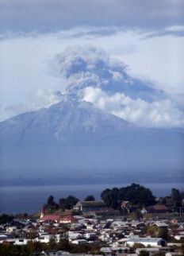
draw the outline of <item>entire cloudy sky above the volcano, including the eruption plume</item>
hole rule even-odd
[[[2,0],[1,120],[77,88],[138,126],[184,126],[183,10],[182,0]]]

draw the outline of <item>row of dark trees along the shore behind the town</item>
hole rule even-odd
[[[121,203],[128,201],[136,208],[148,207],[156,204],[155,196],[150,188],[146,188],[140,184],[131,184],[122,188],[106,188],[101,193],[101,199],[109,208],[121,209]],[[178,189],[172,188],[171,195],[161,197],[159,203],[167,204],[174,207],[176,210],[182,207],[182,200],[184,199],[184,192],[179,192]],[[93,195],[86,196],[85,201],[94,201]],[[72,209],[79,199],[75,196],[67,196],[60,198],[56,203],[53,196],[48,197],[47,203],[44,205],[45,209],[56,210]]]

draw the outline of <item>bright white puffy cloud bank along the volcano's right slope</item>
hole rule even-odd
[[[131,99],[123,93],[108,95],[101,88],[86,87],[83,100],[137,126],[184,126],[183,112],[170,99],[148,103],[143,99]]]

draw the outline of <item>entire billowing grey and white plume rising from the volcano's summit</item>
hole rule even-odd
[[[66,95],[137,126],[184,126],[184,114],[162,91],[128,75],[125,64],[94,47],[67,48],[50,64],[57,76],[67,78]]]

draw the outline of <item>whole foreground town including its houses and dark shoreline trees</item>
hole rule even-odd
[[[0,255],[184,255],[183,192],[155,198],[132,184],[101,197],[49,196],[34,215],[1,215]]]

